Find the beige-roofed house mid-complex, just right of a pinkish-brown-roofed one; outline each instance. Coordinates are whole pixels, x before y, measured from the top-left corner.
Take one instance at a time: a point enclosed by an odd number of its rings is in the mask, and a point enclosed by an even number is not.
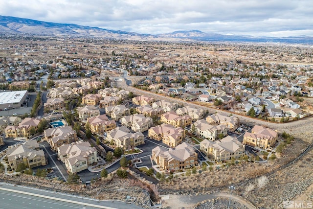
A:
[[[121,124],[135,132],[144,132],[152,127],[153,120],[151,117],[146,117],[143,114],[135,114],[122,117]]]

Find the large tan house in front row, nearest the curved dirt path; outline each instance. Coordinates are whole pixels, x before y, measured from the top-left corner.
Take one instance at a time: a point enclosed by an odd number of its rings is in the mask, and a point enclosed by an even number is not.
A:
[[[164,171],[174,171],[197,166],[198,154],[191,145],[183,142],[175,149],[157,146],[152,150],[152,160]]]

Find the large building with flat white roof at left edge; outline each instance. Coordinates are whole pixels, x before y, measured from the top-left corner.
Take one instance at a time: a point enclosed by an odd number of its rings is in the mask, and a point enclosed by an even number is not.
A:
[[[20,108],[28,95],[27,90],[14,92],[0,92],[0,109]]]

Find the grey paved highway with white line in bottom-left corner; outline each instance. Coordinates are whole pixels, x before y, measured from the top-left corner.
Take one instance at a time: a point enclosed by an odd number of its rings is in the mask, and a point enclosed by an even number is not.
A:
[[[99,201],[6,184],[0,184],[0,199],[0,209],[142,209],[122,201]]]

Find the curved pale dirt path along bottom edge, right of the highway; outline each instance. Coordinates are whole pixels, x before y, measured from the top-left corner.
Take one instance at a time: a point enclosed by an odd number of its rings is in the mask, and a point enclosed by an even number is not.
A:
[[[204,200],[216,199],[218,197],[224,197],[229,199],[230,194],[227,193],[214,193],[207,195],[165,195],[162,198],[162,207],[170,207],[170,209],[192,209],[197,203]],[[234,194],[231,195],[231,199],[245,205],[248,209],[255,209],[251,203],[245,199],[238,197]]]

